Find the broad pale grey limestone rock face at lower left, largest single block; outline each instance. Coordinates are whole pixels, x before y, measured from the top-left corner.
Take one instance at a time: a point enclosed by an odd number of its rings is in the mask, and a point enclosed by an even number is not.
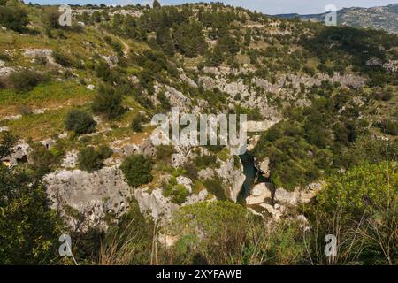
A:
[[[61,211],[68,224],[76,229],[106,228],[103,218],[107,213],[119,217],[129,207],[131,188],[117,166],[93,173],[80,170],[51,172],[44,180],[52,207]],[[65,213],[68,208],[78,211],[86,220],[79,223],[68,216]]]

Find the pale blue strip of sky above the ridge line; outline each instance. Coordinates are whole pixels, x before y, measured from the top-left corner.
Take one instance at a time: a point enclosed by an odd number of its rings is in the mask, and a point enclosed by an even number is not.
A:
[[[25,0],[39,4],[151,4],[152,0]],[[217,2],[217,0],[213,0]],[[210,2],[205,0],[160,0],[161,4],[182,4],[195,2]],[[267,14],[293,13],[300,14],[324,12],[327,4],[333,4],[338,9],[345,7],[372,7],[397,3],[398,0],[225,0],[224,4],[241,6],[252,11],[263,11]]]

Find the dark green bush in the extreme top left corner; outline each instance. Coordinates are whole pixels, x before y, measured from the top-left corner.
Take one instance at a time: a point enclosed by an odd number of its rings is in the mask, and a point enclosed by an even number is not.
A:
[[[22,32],[28,24],[27,11],[19,7],[0,6],[0,26]]]

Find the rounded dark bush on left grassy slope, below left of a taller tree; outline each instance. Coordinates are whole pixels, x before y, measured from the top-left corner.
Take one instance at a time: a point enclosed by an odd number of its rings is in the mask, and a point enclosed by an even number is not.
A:
[[[66,115],[65,128],[76,134],[89,134],[94,132],[96,121],[87,112],[74,109]]]

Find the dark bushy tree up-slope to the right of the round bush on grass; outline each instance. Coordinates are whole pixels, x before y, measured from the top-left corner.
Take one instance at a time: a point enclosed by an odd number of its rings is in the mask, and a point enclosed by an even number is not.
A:
[[[101,85],[91,107],[96,113],[103,114],[108,119],[115,119],[125,111],[121,103],[122,96],[119,91],[115,91],[114,88],[109,86]]]

